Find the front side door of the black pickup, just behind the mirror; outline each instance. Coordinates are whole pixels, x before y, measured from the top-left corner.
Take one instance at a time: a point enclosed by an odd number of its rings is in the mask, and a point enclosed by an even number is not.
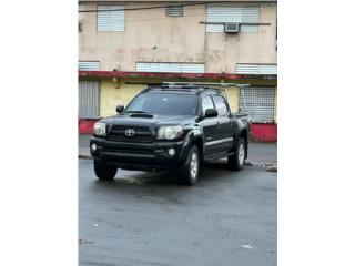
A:
[[[207,109],[215,109],[212,96],[206,95],[202,98],[202,115],[204,117],[205,111]],[[219,141],[219,117],[204,117],[201,121],[201,125],[203,129],[204,134],[204,142],[205,142],[205,154],[212,154],[216,152],[217,149],[217,141]]]

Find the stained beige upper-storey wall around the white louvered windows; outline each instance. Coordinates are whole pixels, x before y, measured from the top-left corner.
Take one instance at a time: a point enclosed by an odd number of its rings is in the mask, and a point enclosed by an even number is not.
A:
[[[84,2],[81,3],[81,9],[95,10],[97,4]],[[156,4],[158,2],[128,2],[125,7]],[[126,11],[124,32],[98,32],[97,13],[81,13],[79,60],[99,60],[101,70],[108,71],[135,71],[138,61],[205,62],[205,72],[219,73],[235,72],[236,63],[276,63],[276,4],[257,4],[261,6],[260,22],[272,25],[260,27],[258,33],[236,35],[206,33],[206,25],[200,23],[205,21],[204,6],[185,7],[182,18],[166,18],[164,9]]]

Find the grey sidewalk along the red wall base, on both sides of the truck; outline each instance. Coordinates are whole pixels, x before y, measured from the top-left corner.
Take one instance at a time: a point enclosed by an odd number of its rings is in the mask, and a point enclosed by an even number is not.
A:
[[[90,158],[90,134],[79,134],[79,157]],[[248,146],[248,162],[252,164],[277,164],[277,143],[252,142]]]

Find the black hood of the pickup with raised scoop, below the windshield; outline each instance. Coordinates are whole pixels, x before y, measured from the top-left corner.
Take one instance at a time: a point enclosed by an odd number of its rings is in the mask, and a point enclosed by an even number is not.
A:
[[[144,115],[144,114],[123,114],[114,115],[101,120],[100,122],[108,124],[124,125],[186,125],[196,122],[197,116],[194,115]]]

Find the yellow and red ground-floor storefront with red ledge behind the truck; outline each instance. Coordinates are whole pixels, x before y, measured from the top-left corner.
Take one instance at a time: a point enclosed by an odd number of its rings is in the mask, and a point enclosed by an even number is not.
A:
[[[212,73],[80,71],[79,132],[91,133],[95,121],[114,115],[116,105],[126,105],[148,84],[160,84],[168,81],[246,84],[247,86],[243,88],[225,88],[232,111],[245,111],[250,114],[253,140],[277,141],[276,79]]]

